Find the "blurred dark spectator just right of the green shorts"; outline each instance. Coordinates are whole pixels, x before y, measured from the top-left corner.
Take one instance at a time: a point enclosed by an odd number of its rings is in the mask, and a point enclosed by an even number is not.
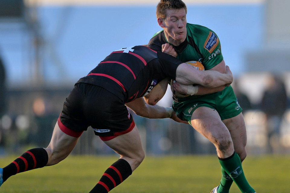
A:
[[[252,104],[251,104],[248,96],[240,90],[239,82],[240,82],[239,79],[235,79],[232,87],[233,87],[235,95],[237,96],[237,100],[238,100],[241,108],[243,109],[243,113],[244,113],[247,110],[252,109]]]

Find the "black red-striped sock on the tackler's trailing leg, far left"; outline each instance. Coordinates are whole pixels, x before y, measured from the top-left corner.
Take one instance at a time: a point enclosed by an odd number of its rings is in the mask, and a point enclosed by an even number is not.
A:
[[[3,168],[3,181],[5,182],[10,176],[31,169],[42,168],[48,162],[48,155],[43,148],[34,148],[26,151],[8,166]]]

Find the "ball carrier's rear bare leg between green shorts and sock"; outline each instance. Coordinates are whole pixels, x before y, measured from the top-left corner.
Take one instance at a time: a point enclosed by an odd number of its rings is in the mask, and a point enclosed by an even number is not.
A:
[[[243,161],[247,156],[245,148],[247,144],[247,131],[243,114],[240,113],[230,119],[224,119],[222,122],[227,126],[233,140],[234,149]]]

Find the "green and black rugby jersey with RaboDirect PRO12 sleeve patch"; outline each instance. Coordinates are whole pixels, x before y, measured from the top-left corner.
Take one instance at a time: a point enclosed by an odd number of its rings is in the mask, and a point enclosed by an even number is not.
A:
[[[201,25],[189,23],[186,24],[186,30],[187,37],[183,43],[179,46],[171,44],[177,52],[177,59],[182,62],[201,62],[205,70],[213,68],[224,59],[221,54],[221,43],[212,30]],[[169,42],[165,37],[164,31],[161,30],[153,35],[147,46],[153,50],[161,51],[162,44],[165,43]],[[199,96],[187,96],[185,98],[197,97]]]

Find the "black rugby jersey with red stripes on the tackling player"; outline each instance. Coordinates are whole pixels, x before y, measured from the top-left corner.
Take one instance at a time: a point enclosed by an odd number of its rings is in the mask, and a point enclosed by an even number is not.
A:
[[[169,54],[133,46],[112,52],[77,83],[103,87],[127,103],[145,96],[166,77],[175,80],[181,63]]]

